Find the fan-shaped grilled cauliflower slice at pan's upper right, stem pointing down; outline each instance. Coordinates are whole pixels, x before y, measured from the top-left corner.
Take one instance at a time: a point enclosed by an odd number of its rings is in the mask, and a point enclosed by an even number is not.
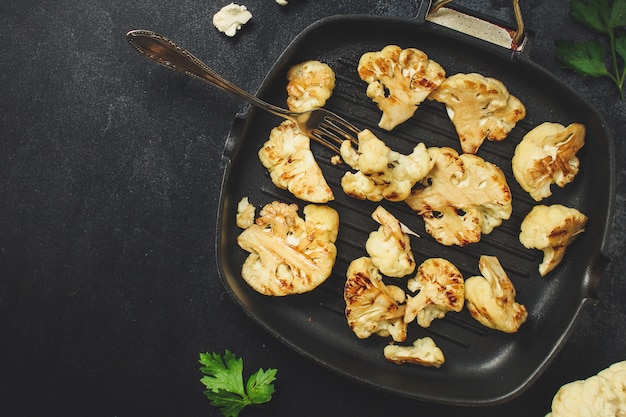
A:
[[[464,153],[475,154],[485,139],[503,140],[526,116],[500,80],[476,73],[448,77],[429,98],[445,104]]]

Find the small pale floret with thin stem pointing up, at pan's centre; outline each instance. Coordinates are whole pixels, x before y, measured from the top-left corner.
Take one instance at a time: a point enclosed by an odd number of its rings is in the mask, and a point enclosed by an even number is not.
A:
[[[402,223],[382,206],[372,213],[380,223],[377,231],[371,232],[365,250],[376,268],[388,277],[401,278],[415,270],[415,258],[411,252],[411,239],[404,232]]]

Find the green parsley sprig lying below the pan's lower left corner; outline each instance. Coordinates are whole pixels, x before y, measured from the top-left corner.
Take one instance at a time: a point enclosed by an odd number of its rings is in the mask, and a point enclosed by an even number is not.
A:
[[[204,395],[211,405],[218,407],[224,417],[237,417],[251,404],[263,404],[272,399],[276,369],[259,369],[244,387],[243,359],[229,350],[224,357],[217,353],[200,353],[200,382],[207,388]]]

